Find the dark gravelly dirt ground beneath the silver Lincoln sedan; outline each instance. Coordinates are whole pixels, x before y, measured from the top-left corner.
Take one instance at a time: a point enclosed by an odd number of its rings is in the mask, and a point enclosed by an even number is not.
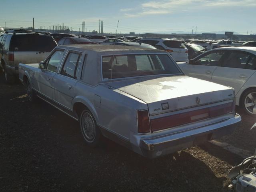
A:
[[[227,192],[228,170],[242,161],[210,143],[153,160],[107,139],[88,148],[72,118],[0,78],[0,192]],[[251,119],[224,140],[253,151]]]

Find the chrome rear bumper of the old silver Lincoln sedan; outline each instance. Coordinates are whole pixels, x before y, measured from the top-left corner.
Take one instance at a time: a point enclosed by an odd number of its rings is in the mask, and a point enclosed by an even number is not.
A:
[[[140,150],[148,158],[170,154],[207,140],[214,140],[231,134],[240,121],[240,115],[236,114],[234,118],[185,132],[150,139],[142,138],[140,139]]]

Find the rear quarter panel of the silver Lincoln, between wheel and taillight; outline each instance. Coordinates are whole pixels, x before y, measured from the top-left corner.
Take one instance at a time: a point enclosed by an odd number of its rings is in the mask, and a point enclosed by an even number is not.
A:
[[[95,99],[98,96],[100,103]],[[76,102],[88,107],[100,127],[128,140],[130,132],[137,132],[136,110],[147,109],[146,103],[120,90],[110,89],[106,84],[92,87],[78,82],[72,106]]]

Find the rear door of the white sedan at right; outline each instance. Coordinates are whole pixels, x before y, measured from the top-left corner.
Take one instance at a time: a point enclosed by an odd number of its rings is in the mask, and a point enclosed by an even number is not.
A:
[[[255,72],[253,69],[255,56],[237,50],[228,50],[228,55],[218,66],[212,75],[212,82],[230,86],[236,93]]]

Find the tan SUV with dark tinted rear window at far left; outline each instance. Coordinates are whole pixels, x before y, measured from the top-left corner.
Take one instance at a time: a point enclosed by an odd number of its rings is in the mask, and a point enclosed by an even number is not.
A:
[[[38,33],[8,33],[0,35],[0,72],[4,69],[6,83],[13,83],[18,64],[40,62],[57,46],[48,35]]]

